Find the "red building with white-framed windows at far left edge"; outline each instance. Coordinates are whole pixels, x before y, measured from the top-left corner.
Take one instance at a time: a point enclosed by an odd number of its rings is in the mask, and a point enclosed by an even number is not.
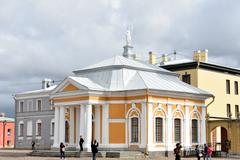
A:
[[[0,117],[0,148],[14,147],[14,119],[5,117],[4,113]]]

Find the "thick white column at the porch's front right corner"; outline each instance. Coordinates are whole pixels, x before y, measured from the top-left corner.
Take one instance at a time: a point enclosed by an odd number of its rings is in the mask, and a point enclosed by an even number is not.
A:
[[[92,140],[92,105],[86,105],[86,135],[85,146],[88,152],[91,152],[91,140]]]

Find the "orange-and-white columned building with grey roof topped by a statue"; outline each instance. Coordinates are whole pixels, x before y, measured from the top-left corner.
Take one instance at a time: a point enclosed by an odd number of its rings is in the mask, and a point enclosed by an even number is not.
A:
[[[78,147],[80,135],[87,151],[93,139],[105,150],[150,153],[172,152],[180,142],[186,149],[206,143],[205,100],[212,94],[183,83],[176,73],[135,60],[129,34],[123,56],[75,70],[49,91],[53,110],[45,127],[53,124],[52,148],[61,142]]]

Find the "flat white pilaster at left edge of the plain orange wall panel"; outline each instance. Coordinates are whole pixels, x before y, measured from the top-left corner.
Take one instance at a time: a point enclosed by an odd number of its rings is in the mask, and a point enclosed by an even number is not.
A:
[[[104,147],[108,146],[108,133],[109,133],[109,111],[108,104],[102,106],[102,145]]]

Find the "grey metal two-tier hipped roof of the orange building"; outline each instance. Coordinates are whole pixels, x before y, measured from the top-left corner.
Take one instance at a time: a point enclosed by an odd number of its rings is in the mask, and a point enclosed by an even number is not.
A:
[[[70,79],[89,89],[99,91],[152,89],[211,95],[209,92],[182,82],[176,73],[123,56],[115,56],[73,72],[75,76],[69,77]]]

